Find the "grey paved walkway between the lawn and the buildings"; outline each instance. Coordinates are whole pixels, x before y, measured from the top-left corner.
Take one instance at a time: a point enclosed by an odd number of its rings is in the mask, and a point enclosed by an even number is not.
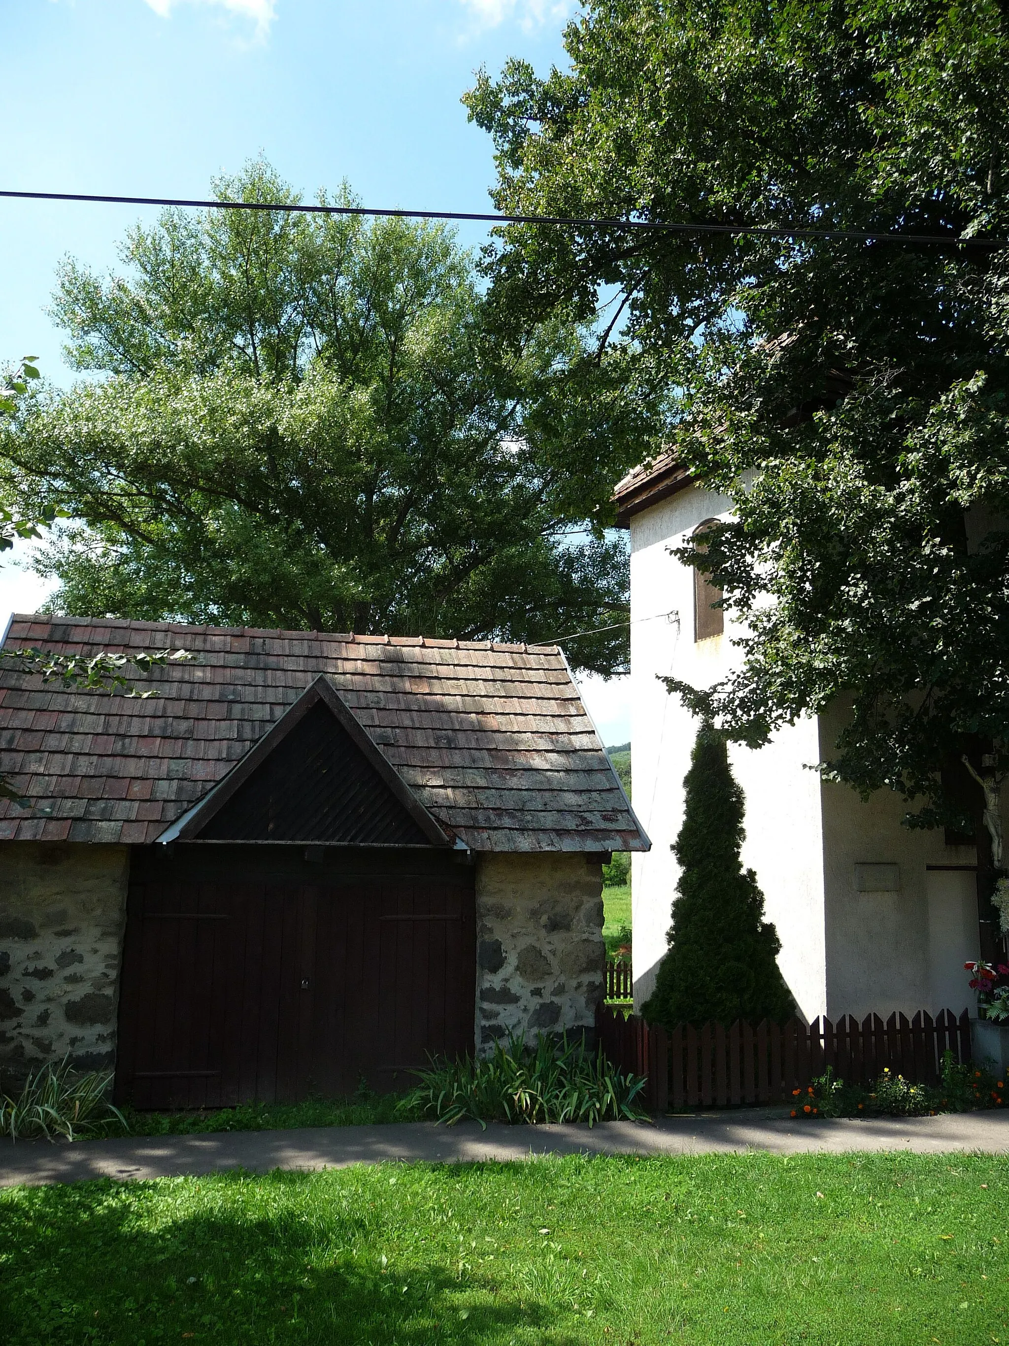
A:
[[[48,1144],[0,1141],[0,1186],[87,1178],[168,1178],[245,1168],[311,1171],[347,1164],[530,1159],[538,1155],[702,1155],[764,1149],[775,1155],[845,1151],[1009,1154],[1009,1112],[798,1123],[760,1109],[663,1117],[657,1124],[504,1127],[431,1121],[381,1127],[305,1127],[203,1136],[144,1136]]]

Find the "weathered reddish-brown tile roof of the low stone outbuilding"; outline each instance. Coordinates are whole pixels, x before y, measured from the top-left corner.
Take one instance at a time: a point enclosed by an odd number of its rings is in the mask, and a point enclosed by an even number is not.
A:
[[[324,674],[420,802],[475,851],[627,851],[648,843],[561,651],[16,615],[8,647],[184,647],[160,696],[43,685],[0,662],[0,840],[155,841]]]

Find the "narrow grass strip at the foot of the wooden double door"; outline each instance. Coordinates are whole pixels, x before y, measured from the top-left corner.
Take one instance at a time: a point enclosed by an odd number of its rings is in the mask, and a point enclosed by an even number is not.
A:
[[[363,1127],[377,1121],[409,1121],[409,1117],[396,1113],[402,1097],[362,1092],[350,1098],[252,1102],[210,1112],[137,1112],[135,1108],[124,1108],[122,1112],[133,1136],[194,1136],[207,1131]]]

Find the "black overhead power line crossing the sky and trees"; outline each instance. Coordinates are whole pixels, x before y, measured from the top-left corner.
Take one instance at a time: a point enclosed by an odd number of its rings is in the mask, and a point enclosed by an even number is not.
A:
[[[868,229],[805,229],[788,225],[681,223],[667,219],[580,218],[576,215],[503,215],[472,210],[394,210],[379,206],[305,205],[288,201],[196,201],[187,197],[100,197],[79,191],[4,191],[16,201],[77,201],[106,206],[182,206],[199,210],[276,210],[289,215],[377,215],[394,219],[460,219],[488,225],[556,225],[565,229],[642,229],[669,234],[731,234],[767,238],[849,238],[856,242],[930,244],[944,248],[1009,248],[1005,238],[957,234],[899,234]]]

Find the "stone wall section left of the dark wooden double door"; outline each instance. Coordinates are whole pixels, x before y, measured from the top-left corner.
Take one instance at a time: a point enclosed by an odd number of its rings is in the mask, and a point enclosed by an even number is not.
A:
[[[116,1058],[129,851],[0,843],[0,1074]]]

